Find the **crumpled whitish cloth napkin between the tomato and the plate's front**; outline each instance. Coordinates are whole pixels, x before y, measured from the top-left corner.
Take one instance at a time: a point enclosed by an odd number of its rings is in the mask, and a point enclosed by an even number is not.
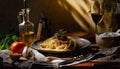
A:
[[[27,47],[25,47],[23,50],[23,57],[26,55],[26,50]],[[64,61],[61,58],[44,56],[42,53],[33,48],[28,48],[28,51],[29,59],[21,63],[16,63],[16,65],[21,69],[58,69],[58,64]]]

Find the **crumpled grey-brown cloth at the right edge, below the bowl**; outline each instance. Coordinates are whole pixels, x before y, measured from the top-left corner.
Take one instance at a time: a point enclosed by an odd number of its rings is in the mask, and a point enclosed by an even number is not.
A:
[[[104,56],[96,58],[92,61],[98,62],[120,62],[120,46],[115,46],[111,48],[100,48],[101,54]]]

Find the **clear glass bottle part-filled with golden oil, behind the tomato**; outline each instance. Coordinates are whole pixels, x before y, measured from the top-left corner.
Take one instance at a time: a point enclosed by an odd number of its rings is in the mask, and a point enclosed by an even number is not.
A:
[[[27,46],[31,46],[34,42],[34,24],[29,20],[30,9],[22,9],[22,20],[19,24],[20,41],[26,43]]]

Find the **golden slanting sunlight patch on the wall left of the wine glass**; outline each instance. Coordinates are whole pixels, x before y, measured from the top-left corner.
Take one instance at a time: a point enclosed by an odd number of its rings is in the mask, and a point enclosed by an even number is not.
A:
[[[85,31],[89,31],[90,28],[94,31],[95,27],[89,13],[91,2],[91,0],[58,0],[58,3],[71,12],[75,21]]]

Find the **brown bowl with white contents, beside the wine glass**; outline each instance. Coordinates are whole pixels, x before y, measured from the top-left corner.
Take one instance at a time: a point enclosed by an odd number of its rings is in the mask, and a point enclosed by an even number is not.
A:
[[[120,34],[114,32],[96,34],[96,44],[101,47],[119,46]]]

